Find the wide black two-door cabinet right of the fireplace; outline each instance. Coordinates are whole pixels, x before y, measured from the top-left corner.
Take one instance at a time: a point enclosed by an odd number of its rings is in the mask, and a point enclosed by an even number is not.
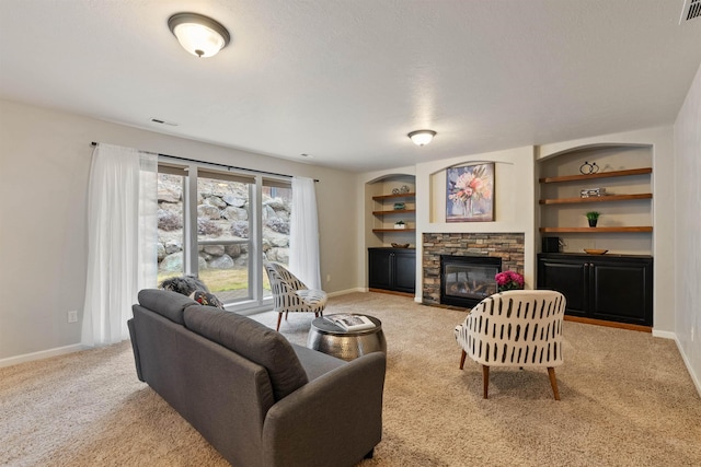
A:
[[[538,288],[562,292],[566,314],[653,325],[653,258],[628,255],[538,255]]]

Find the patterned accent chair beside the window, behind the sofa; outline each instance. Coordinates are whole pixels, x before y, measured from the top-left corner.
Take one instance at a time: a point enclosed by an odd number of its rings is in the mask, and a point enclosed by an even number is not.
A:
[[[323,316],[327,301],[326,292],[309,290],[279,262],[264,261],[263,265],[271,281],[275,311],[278,313],[276,330],[280,330],[283,314],[287,320],[289,312],[308,312],[313,313],[315,317]]]

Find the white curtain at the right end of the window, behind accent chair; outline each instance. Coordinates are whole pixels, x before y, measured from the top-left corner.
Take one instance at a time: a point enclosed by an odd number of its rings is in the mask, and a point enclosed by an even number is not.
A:
[[[321,290],[317,192],[311,178],[292,177],[289,269],[310,289]]]

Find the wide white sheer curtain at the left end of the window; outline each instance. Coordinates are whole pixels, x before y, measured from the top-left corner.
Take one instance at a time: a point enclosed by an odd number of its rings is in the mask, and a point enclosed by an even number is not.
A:
[[[158,156],[100,143],[88,188],[88,280],[83,346],[129,338],[140,289],[157,282]]]

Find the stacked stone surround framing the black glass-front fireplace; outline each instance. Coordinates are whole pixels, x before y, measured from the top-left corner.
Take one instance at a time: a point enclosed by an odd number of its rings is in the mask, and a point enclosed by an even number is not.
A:
[[[422,303],[440,303],[440,255],[502,258],[502,270],[524,273],[522,233],[425,233],[423,234]]]

